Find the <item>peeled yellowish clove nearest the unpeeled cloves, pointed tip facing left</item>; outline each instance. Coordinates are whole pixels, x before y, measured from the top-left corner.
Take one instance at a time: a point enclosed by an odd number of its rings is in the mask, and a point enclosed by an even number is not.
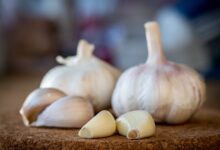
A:
[[[87,122],[78,135],[83,138],[101,138],[115,133],[115,118],[109,111],[103,110]]]

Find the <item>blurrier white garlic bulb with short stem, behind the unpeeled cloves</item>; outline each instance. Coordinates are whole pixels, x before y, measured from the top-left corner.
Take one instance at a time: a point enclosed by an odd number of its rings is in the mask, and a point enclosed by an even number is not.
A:
[[[41,88],[57,88],[67,95],[91,100],[95,111],[110,107],[111,95],[121,71],[95,57],[94,45],[80,40],[77,55],[57,57],[63,66],[51,69],[43,78]]]

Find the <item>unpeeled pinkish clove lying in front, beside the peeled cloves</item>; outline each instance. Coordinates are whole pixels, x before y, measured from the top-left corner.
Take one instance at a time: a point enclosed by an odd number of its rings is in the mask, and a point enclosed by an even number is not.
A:
[[[94,116],[92,104],[76,96],[66,96],[49,105],[32,126],[80,128]]]

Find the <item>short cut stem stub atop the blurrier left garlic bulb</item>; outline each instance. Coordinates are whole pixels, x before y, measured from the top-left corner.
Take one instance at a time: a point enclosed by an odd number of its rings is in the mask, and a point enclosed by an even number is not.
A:
[[[77,47],[78,58],[88,58],[92,56],[95,46],[86,40],[80,40]]]

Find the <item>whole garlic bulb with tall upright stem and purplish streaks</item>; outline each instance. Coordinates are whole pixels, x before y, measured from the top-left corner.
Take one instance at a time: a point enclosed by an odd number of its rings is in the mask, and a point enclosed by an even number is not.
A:
[[[113,110],[119,116],[142,109],[156,122],[185,122],[203,104],[205,84],[193,69],[166,60],[157,23],[146,23],[145,30],[148,59],[120,76],[113,93]]]

